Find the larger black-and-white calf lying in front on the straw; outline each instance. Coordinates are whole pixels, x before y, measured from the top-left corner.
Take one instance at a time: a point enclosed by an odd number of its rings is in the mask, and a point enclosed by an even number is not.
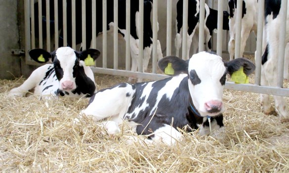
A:
[[[124,120],[136,123],[137,134],[150,135],[170,144],[181,136],[176,128],[189,126],[200,134],[219,137],[224,132],[222,102],[226,75],[240,67],[251,74],[255,66],[246,58],[224,62],[213,52],[194,54],[189,60],[167,56],[158,63],[162,71],[172,63],[173,77],[160,81],[123,83],[98,91],[82,116],[104,122],[108,133],[119,133]],[[211,130],[209,122],[211,121]],[[79,120],[76,120],[79,121]],[[172,138],[171,138],[172,136]]]

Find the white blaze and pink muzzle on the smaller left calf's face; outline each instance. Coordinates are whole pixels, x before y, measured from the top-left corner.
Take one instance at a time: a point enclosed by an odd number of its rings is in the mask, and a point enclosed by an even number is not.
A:
[[[75,78],[73,77],[73,67],[76,62],[75,51],[70,47],[60,47],[56,50],[56,57],[63,70],[63,77],[59,81],[59,89],[72,90],[76,88]]]

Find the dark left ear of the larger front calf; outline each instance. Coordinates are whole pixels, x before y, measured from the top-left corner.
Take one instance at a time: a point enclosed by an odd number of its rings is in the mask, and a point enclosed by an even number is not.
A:
[[[172,75],[178,75],[181,73],[188,74],[189,60],[185,61],[176,56],[166,56],[158,62],[158,66],[163,72],[165,72],[165,68],[167,68],[168,63],[171,63],[171,67],[174,70],[174,74]]]

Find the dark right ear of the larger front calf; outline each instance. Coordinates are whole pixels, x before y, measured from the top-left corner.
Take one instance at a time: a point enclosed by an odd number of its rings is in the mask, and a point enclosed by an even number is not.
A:
[[[246,58],[237,58],[231,61],[225,62],[225,66],[228,69],[228,73],[231,76],[232,73],[238,71],[241,66],[244,68],[244,73],[248,76],[255,71],[255,65]]]

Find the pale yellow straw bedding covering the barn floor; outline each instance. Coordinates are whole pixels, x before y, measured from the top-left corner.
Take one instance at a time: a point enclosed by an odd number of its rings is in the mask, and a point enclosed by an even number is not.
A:
[[[126,81],[95,77],[99,89]],[[127,144],[133,132],[109,136],[90,119],[74,125],[84,98],[7,98],[23,81],[0,80],[0,172],[289,172],[289,123],[264,115],[257,93],[224,91],[224,141],[192,132],[166,146]]]

